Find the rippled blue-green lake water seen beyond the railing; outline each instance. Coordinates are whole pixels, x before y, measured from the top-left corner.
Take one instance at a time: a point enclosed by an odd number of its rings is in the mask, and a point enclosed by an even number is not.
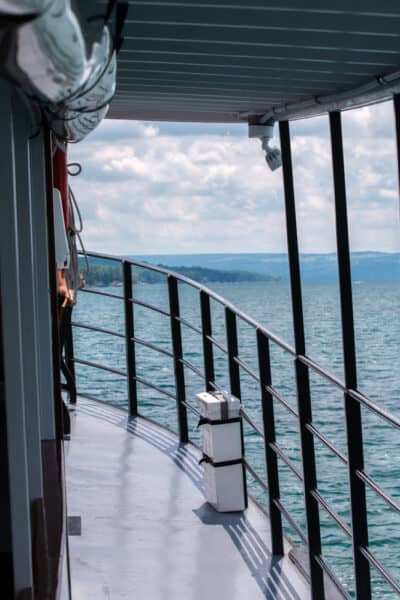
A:
[[[181,316],[200,326],[198,291],[179,284]],[[214,284],[213,290],[231,300],[237,307],[289,343],[293,343],[289,287],[280,283]],[[102,288],[121,294],[121,288]],[[369,398],[400,416],[400,283],[363,283],[354,285],[354,316],[357,336],[359,389]],[[167,286],[139,284],[135,297],[168,310]],[[343,357],[340,331],[339,292],[335,283],[305,284],[303,287],[307,354],[338,377],[343,377]],[[224,314],[212,301],[213,336],[226,343]],[[124,333],[123,303],[120,299],[81,294],[74,320]],[[135,306],[135,335],[138,338],[171,350],[170,324],[167,317]],[[239,321],[239,356],[257,371],[255,331]],[[203,370],[201,339],[193,330],[182,327],[184,358]],[[75,356],[125,371],[124,340],[84,329],[75,329]],[[293,359],[277,346],[271,346],[272,381],[282,396],[296,406]],[[150,379],[162,389],[175,392],[172,361],[169,357],[139,344],[136,346],[137,375]],[[216,382],[228,389],[225,355],[215,349]],[[241,373],[243,403],[247,412],[262,426],[258,384],[245,372]],[[202,380],[185,369],[186,394],[194,401],[201,391]],[[127,404],[126,381],[106,371],[77,365],[78,389],[114,404]],[[174,401],[157,391],[139,385],[139,407],[144,416],[152,417],[176,430]],[[313,421],[315,425],[344,453],[346,451],[343,396],[333,384],[311,374]],[[194,403],[194,402],[193,402]],[[297,419],[278,401],[276,413],[277,442],[295,464],[300,463],[300,443]],[[365,470],[393,498],[400,499],[400,434],[382,419],[362,409],[365,442]],[[189,415],[191,437],[198,441],[197,419]],[[246,458],[265,479],[264,450],[259,436],[245,427]],[[346,466],[317,439],[318,489],[335,512],[350,526],[349,488]],[[305,532],[303,491],[299,481],[283,462],[279,462],[281,498],[284,506]],[[264,493],[249,478],[249,489],[266,507]],[[400,581],[400,516],[383,500],[367,489],[370,548]],[[351,545],[331,517],[320,510],[323,534],[323,556],[335,570],[352,595]],[[288,526],[286,533],[298,542]],[[372,569],[374,598],[394,598],[395,592]]]

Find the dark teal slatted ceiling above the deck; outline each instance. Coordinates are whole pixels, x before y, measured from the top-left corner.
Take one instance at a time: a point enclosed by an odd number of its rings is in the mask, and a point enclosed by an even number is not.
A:
[[[112,118],[247,121],[400,69],[398,0],[129,5]]]

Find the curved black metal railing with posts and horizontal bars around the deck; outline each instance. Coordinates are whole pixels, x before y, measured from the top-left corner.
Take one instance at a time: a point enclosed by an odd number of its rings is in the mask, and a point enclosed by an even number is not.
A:
[[[353,535],[353,530],[339,516],[337,511],[323,497],[318,490],[318,485],[313,484],[315,477],[315,449],[314,439],[318,439],[325,448],[329,450],[339,461],[344,464],[349,473],[349,478],[356,478],[364,489],[372,490],[383,503],[386,504],[395,513],[400,513],[399,503],[371,478],[364,469],[359,469],[357,461],[353,461],[351,447],[347,447],[344,453],[313,423],[311,414],[311,397],[309,374],[315,372],[323,377],[330,384],[336,386],[343,394],[344,401],[352,402],[362,406],[368,411],[374,413],[380,419],[383,419],[391,426],[400,429],[400,419],[389,413],[376,402],[362,394],[357,389],[348,389],[345,384],[334,374],[330,373],[319,364],[314,362],[305,354],[296,353],[295,349],[271,333],[268,329],[257,323],[254,319],[244,314],[233,304],[216,294],[201,284],[184,277],[183,275],[168,271],[161,267],[153,266],[147,263],[124,260],[118,257],[107,256],[103,254],[90,253],[89,257],[102,259],[104,261],[113,261],[122,268],[123,276],[123,295],[118,295],[101,289],[84,289],[85,294],[93,294],[105,297],[111,297],[120,300],[124,306],[124,333],[113,331],[112,329],[102,328],[95,325],[89,325],[82,322],[73,322],[73,329],[86,329],[93,332],[102,333],[106,336],[115,336],[125,341],[126,348],[126,370],[115,369],[106,365],[101,365],[93,361],[86,360],[84,357],[74,357],[72,336],[69,337],[69,343],[66,347],[66,364],[69,370],[74,373],[77,365],[86,365],[95,369],[101,369],[113,373],[119,377],[126,378],[128,390],[128,411],[131,418],[136,417],[140,412],[140,402],[138,401],[137,384],[151,388],[162,396],[173,399],[176,403],[178,433],[182,443],[193,441],[188,427],[188,411],[198,415],[195,406],[189,402],[186,397],[185,388],[185,369],[193,371],[203,382],[203,389],[213,391],[219,389],[215,378],[214,350],[217,348],[227,357],[230,392],[242,397],[241,377],[245,372],[248,377],[256,382],[259,387],[259,398],[261,406],[262,424],[259,425],[256,420],[242,405],[242,417],[247,425],[252,428],[254,434],[258,436],[263,443],[266,480],[260,476],[257,470],[245,460],[247,472],[255,480],[258,486],[265,492],[268,499],[268,512],[271,520],[271,546],[273,554],[283,554],[283,526],[282,518],[297,533],[300,540],[308,548],[310,559],[310,578],[313,589],[313,598],[324,598],[324,578],[326,576],[332,580],[338,590],[344,597],[349,597],[348,592],[343,587],[340,577],[334,573],[327,562],[324,560],[321,552],[321,526],[319,511],[325,511],[330,519],[339,527],[345,537],[352,540],[354,557],[357,553],[362,555],[368,563],[377,571],[377,573],[387,582],[387,584],[397,593],[400,593],[400,584],[395,581],[390,572],[385,568],[380,560],[372,553],[367,544],[360,543]],[[134,294],[134,281],[132,271],[135,268],[149,270],[164,276],[168,286],[168,310],[155,306],[151,303],[140,300]],[[200,306],[201,326],[197,326],[181,316],[180,312],[180,293],[179,285],[186,284],[191,288],[198,290],[198,302]],[[212,309],[211,301],[215,301],[222,306],[225,316],[226,344],[213,337],[212,329]],[[142,306],[154,313],[158,313],[168,318],[170,321],[170,342],[171,351],[155,343],[146,341],[135,335],[135,315],[134,306]],[[240,357],[238,342],[238,322],[242,321],[254,330],[254,344],[257,349],[257,368],[249,365]],[[185,358],[182,348],[182,328],[186,327],[196,332],[201,338],[201,352],[203,357],[203,369],[193,364]],[[297,407],[289,402],[281,391],[278,391],[272,382],[271,375],[271,345],[277,345],[285,353],[290,355],[294,361],[297,387]],[[174,365],[175,391],[165,389],[162,385],[154,382],[154,379],[138,376],[136,372],[136,348],[138,346],[147,347],[155,352],[169,357]],[[78,393],[79,390],[78,390]],[[85,394],[82,394],[85,395]],[[297,419],[301,442],[302,464],[298,466],[279,446],[276,439],[274,403],[278,402],[286,411]],[[343,424],[345,426],[345,424]],[[351,427],[351,421],[347,420],[347,427]],[[351,440],[351,431],[348,439]],[[246,437],[245,437],[245,456],[246,456]],[[350,443],[351,445],[351,443]],[[284,498],[280,493],[280,477],[278,461],[282,461],[286,467],[294,474],[295,478],[301,482],[305,491],[305,522],[306,531],[299,526],[296,519],[284,504]],[[356,466],[355,466],[356,465]],[[314,475],[313,475],[314,474]],[[353,518],[361,519],[367,522],[367,508],[361,498],[351,496],[349,498],[351,514]],[[368,539],[368,537],[366,538]],[[317,549],[317,551],[315,551]],[[365,576],[365,573],[359,572],[359,563],[354,561],[355,578]]]

